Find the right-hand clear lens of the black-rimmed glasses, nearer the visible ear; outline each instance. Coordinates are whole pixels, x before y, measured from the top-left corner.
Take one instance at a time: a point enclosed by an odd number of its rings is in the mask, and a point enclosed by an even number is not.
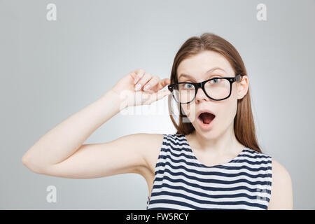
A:
[[[223,99],[230,94],[230,82],[225,78],[216,78],[205,83],[204,89],[210,97]]]

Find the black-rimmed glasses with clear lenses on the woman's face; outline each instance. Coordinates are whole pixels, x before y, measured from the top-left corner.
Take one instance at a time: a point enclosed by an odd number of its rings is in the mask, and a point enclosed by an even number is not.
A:
[[[168,89],[176,102],[181,104],[189,104],[192,102],[201,87],[204,93],[213,100],[223,100],[230,97],[232,92],[232,84],[241,80],[241,74],[235,77],[215,77],[204,80],[200,83],[181,82],[168,85]]]

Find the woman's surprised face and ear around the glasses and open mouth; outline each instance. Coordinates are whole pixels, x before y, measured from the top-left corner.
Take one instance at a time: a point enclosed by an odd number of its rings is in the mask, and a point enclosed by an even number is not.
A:
[[[183,76],[183,73],[189,77]],[[235,77],[235,72],[223,55],[206,50],[184,59],[177,68],[177,77],[179,82],[197,83],[214,77]],[[199,88],[193,102],[181,104],[181,107],[189,122],[195,127],[196,132],[207,139],[216,139],[226,131],[233,130],[234,118],[237,113],[237,99],[244,97],[247,89],[248,78],[243,76],[241,81],[232,84],[231,95],[228,99],[215,101],[207,97],[202,88]],[[215,115],[215,118],[206,128],[202,127],[203,122],[197,117],[197,113],[204,109]]]

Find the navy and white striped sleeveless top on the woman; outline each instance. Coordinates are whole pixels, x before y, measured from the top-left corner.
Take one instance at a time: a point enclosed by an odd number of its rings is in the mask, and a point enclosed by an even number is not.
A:
[[[184,134],[163,134],[146,209],[267,209],[272,158],[244,148],[224,165],[208,167]]]

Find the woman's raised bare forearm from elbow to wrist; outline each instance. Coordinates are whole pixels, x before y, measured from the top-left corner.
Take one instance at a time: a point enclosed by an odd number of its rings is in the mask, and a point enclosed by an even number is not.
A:
[[[25,165],[42,169],[62,162],[107,120],[119,113],[120,97],[111,90],[44,134],[22,158]],[[122,108],[123,109],[123,108]]]

